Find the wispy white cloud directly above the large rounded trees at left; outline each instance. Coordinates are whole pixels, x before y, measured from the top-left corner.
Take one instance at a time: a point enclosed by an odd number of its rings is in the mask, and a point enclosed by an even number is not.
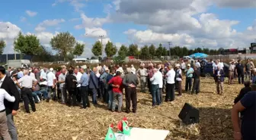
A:
[[[46,30],[46,26],[57,26],[59,25],[59,23],[64,23],[65,20],[64,19],[54,19],[54,20],[44,20],[42,23],[39,23],[35,30],[37,32],[42,32],[44,30]]]

